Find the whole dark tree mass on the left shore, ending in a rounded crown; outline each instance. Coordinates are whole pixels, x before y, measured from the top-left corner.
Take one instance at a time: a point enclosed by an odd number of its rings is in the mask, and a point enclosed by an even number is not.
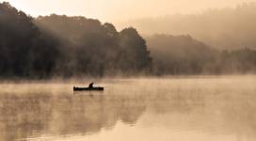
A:
[[[148,72],[152,58],[136,29],[52,14],[33,19],[0,4],[0,75],[104,76]]]

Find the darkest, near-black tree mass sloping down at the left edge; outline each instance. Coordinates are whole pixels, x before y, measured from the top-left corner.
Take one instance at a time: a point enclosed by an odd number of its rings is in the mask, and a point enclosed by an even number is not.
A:
[[[0,73],[2,76],[50,75],[57,51],[33,18],[7,2],[0,4]]]

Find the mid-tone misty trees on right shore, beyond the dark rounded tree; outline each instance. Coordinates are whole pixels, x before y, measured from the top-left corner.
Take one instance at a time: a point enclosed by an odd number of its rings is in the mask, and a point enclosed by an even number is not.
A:
[[[190,36],[155,35],[147,39],[155,74],[255,73],[256,50],[217,51]]]

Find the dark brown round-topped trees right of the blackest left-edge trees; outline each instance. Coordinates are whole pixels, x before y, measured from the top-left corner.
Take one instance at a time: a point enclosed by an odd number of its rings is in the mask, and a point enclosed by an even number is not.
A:
[[[67,52],[63,52],[65,57],[62,60],[67,63],[59,64],[67,66],[59,68],[67,68],[65,73],[68,75],[132,74],[151,68],[146,42],[134,28],[119,33],[113,24],[55,14],[39,17],[35,23],[41,30],[66,43]],[[129,40],[125,41],[125,38]]]

